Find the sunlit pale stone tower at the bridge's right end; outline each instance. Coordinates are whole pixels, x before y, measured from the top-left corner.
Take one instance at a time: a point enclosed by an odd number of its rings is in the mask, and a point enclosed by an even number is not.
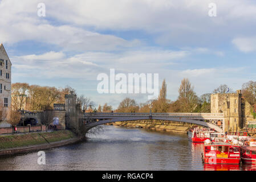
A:
[[[224,113],[224,130],[239,131],[245,126],[241,90],[237,93],[212,94],[211,113]]]

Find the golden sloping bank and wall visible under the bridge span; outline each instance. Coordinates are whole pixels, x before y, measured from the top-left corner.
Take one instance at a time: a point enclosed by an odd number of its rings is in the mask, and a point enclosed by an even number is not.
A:
[[[124,126],[124,127],[141,127],[144,129],[154,130],[154,131],[168,131],[174,133],[184,133],[186,134],[190,127],[194,126],[189,123],[179,123],[179,122],[148,122],[148,121],[129,121],[129,122],[115,122],[109,123],[109,125]]]

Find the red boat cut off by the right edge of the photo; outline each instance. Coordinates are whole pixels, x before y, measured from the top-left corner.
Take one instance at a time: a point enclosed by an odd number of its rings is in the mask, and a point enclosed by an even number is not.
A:
[[[256,164],[256,142],[247,142],[241,147],[241,159],[245,164]]]

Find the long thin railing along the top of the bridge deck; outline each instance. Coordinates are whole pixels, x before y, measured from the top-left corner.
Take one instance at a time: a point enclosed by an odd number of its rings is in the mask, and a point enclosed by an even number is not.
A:
[[[90,117],[143,117],[149,113],[85,113]],[[152,113],[153,117],[224,117],[223,113]]]

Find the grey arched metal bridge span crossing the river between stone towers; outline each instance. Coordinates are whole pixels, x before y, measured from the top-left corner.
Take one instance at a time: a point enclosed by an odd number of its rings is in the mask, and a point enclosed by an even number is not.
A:
[[[84,113],[87,130],[106,123],[136,120],[162,120],[193,123],[212,128],[220,133],[224,132],[223,113]]]

